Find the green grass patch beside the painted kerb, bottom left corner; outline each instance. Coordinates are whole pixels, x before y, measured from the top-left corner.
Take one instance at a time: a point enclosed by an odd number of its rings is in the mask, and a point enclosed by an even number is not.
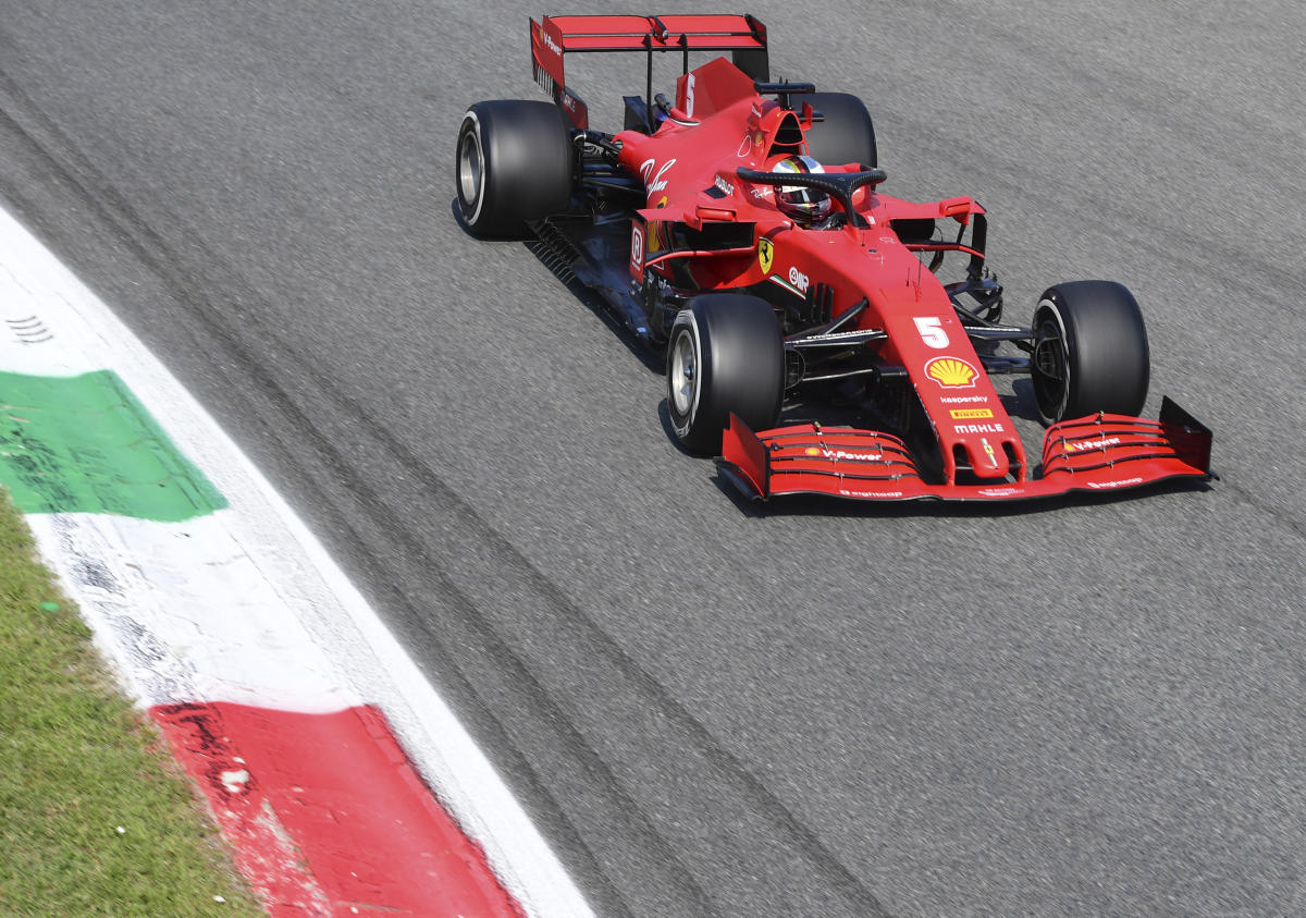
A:
[[[0,488],[0,915],[261,914]]]

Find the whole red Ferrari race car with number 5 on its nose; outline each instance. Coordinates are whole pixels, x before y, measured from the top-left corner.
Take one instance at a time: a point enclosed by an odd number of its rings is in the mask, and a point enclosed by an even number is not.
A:
[[[1012,500],[1212,477],[1207,428],[1169,399],[1136,417],[1149,354],[1130,292],[1058,284],[1029,327],[1003,323],[983,208],[883,194],[866,106],[772,82],[754,17],[555,16],[530,39],[552,101],[468,109],[465,229],[534,237],[665,352],[675,435],[746,494]],[[564,58],[585,51],[648,55],[615,135],[567,85]],[[691,69],[703,51],[730,58]],[[653,93],[654,52],[680,59],[674,101]],[[1037,466],[995,374],[1030,377]]]

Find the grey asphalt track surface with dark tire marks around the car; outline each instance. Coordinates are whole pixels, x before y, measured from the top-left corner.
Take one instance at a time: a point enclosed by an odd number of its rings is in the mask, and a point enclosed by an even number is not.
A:
[[[1135,292],[1148,413],[1205,420],[1224,476],[765,514],[599,315],[452,217],[462,109],[542,98],[541,12],[0,0],[0,195],[282,488],[601,914],[1306,910],[1303,8],[754,4],[774,75],[867,99],[885,191],[986,205],[1008,318]],[[599,118],[640,67],[568,63]]]

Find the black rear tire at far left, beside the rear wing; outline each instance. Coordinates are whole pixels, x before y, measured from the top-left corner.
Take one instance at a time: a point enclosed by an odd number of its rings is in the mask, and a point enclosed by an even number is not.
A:
[[[552,102],[477,102],[458,128],[458,212],[479,237],[522,237],[526,222],[565,211],[573,175],[571,128]]]

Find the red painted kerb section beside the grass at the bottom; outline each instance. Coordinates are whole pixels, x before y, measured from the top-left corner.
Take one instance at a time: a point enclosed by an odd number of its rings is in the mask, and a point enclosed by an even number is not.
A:
[[[215,702],[150,714],[270,914],[521,918],[380,711]]]

